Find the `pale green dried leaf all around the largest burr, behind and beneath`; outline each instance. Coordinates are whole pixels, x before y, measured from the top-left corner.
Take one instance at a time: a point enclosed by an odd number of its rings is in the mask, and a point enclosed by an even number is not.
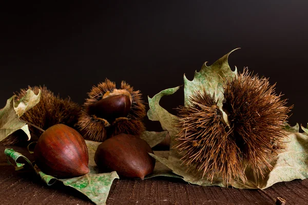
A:
[[[196,72],[194,80],[189,81],[184,76],[185,105],[189,103],[187,100],[191,94],[194,93],[194,91],[201,90],[204,87],[205,91],[210,94],[215,93],[216,97],[219,97],[220,101],[218,106],[221,109],[221,102],[223,100],[223,80],[230,80],[236,75],[236,71],[231,71],[227,63],[227,57],[230,53],[226,54],[209,67],[204,65],[199,73]],[[172,124],[172,122],[176,119],[176,116],[171,115],[163,109],[159,105],[159,101],[161,97],[172,94],[177,89],[178,87],[166,89],[155,95],[153,98],[149,98],[150,110],[148,112],[148,117],[151,120],[160,121],[163,129],[169,131],[171,148],[175,144],[174,140],[178,134],[177,129],[175,129],[174,124]],[[224,116],[224,119],[226,121],[226,115]],[[302,127],[302,129],[308,133],[308,128],[306,129]],[[273,161],[271,161],[274,169],[272,171],[265,170],[264,178],[261,178],[260,174],[258,175],[257,173],[253,173],[251,170],[247,169],[245,171],[247,181],[245,183],[242,181],[235,181],[233,184],[235,188],[265,189],[280,181],[290,181],[293,179],[304,179],[308,177],[308,136],[306,133],[298,133],[298,124],[294,127],[287,125],[285,130],[288,131],[288,138],[285,139],[285,149],[283,152],[279,153]],[[182,176],[183,179],[189,183],[195,183],[201,186],[215,185],[227,187],[227,185],[223,184],[221,178],[214,178],[213,182],[210,182],[206,180],[206,176],[202,179],[192,173],[191,170],[193,170],[194,167],[183,165],[183,161],[181,160],[181,156],[183,154],[179,154],[176,150],[171,149],[170,156],[168,158],[153,154],[150,155],[172,170],[173,173]],[[159,175],[163,175],[163,173],[156,176]]]

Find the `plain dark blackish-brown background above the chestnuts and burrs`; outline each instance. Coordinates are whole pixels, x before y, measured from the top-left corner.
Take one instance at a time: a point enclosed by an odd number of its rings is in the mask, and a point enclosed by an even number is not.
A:
[[[82,104],[106,77],[126,80],[147,102],[192,79],[205,61],[230,50],[232,69],[277,82],[295,105],[290,123],[306,125],[308,1],[102,1],[1,3],[0,107],[14,91],[46,85]],[[183,91],[162,99],[171,112]],[[159,124],[146,121],[148,130]]]

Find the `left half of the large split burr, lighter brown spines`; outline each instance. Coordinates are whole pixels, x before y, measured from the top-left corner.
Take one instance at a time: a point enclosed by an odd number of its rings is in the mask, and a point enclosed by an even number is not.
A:
[[[179,151],[185,151],[183,163],[193,166],[198,175],[212,180],[218,174],[224,182],[244,179],[241,156],[214,96],[195,92],[187,107],[179,107],[177,135]],[[194,169],[191,169],[194,170]]]

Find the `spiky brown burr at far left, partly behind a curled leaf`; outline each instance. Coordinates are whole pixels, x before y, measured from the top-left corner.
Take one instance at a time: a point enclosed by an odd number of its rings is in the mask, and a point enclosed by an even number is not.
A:
[[[43,130],[47,130],[49,127],[56,124],[64,124],[69,127],[74,127],[74,124],[78,121],[81,106],[74,103],[69,97],[63,99],[59,95],[54,95],[54,93],[48,90],[45,86],[29,86],[28,89],[31,89],[36,95],[38,94],[38,91],[41,90],[41,98],[37,105],[21,116],[22,120]],[[24,97],[28,89],[21,89],[20,92],[15,92],[15,99],[19,100]],[[37,137],[41,136],[43,132],[30,124],[28,125],[31,134],[34,134]],[[19,132],[19,134],[13,133],[3,140],[2,143],[4,145],[17,144],[22,140],[20,134],[23,134],[23,132]]]

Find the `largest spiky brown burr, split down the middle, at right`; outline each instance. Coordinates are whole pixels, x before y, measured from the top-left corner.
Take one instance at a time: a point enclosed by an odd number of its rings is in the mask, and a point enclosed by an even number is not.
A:
[[[283,127],[292,107],[275,94],[275,85],[245,69],[224,84],[223,111],[214,97],[205,91],[195,92],[190,105],[179,108],[177,135],[179,151],[185,151],[186,165],[197,168],[198,174],[213,180],[221,176],[224,183],[246,180],[245,168],[263,176],[264,168],[282,148],[286,135]]]

